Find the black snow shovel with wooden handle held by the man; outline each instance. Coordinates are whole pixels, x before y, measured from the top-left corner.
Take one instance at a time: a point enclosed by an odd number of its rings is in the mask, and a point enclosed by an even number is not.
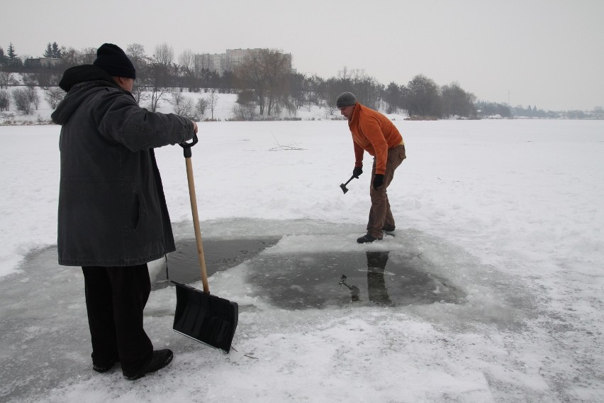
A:
[[[201,282],[203,292],[188,285],[174,282],[177,289],[177,307],[174,312],[174,331],[193,338],[209,346],[220,348],[225,352],[230,351],[235,329],[239,307],[236,302],[230,302],[210,294],[208,287],[208,275],[206,272],[206,259],[203,257],[203,244],[201,243],[201,230],[199,229],[199,216],[197,213],[197,200],[195,197],[195,184],[193,180],[193,165],[191,163],[191,147],[197,143],[197,135],[194,134],[191,143],[182,143],[184,158],[186,162],[186,179],[189,182],[189,198],[191,199],[191,213],[193,214],[193,226],[195,229],[195,240],[197,242],[197,254],[199,267],[201,269]]]

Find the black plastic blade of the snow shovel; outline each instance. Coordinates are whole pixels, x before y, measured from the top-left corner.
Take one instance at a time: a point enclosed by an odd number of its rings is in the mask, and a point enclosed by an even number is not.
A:
[[[237,303],[188,285],[174,284],[177,290],[174,331],[228,353],[237,329]]]

